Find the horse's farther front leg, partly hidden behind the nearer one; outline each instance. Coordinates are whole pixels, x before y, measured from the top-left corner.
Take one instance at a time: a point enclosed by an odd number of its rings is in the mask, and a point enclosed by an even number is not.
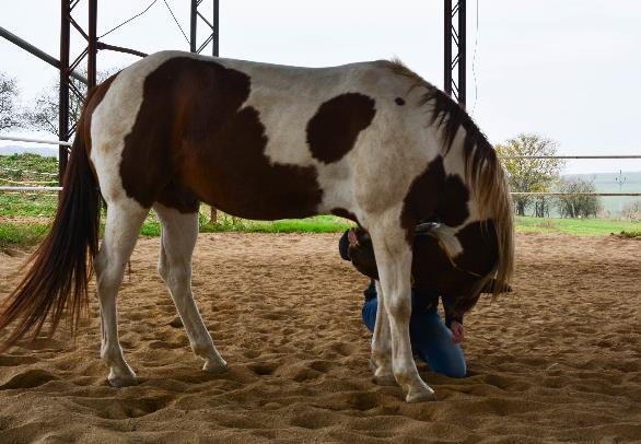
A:
[[[376,281],[376,324],[372,335],[372,363],[374,364],[374,381],[378,385],[396,385],[392,371],[392,336],[389,334],[389,317],[385,309],[385,294],[381,282]]]

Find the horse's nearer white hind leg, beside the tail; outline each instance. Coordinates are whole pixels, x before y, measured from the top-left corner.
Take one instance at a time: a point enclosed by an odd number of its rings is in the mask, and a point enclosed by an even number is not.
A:
[[[108,381],[115,387],[137,384],[136,373],[125,361],[118,340],[116,296],[148,212],[131,201],[108,202],[105,236],[95,258],[101,306],[101,358],[109,367]]]

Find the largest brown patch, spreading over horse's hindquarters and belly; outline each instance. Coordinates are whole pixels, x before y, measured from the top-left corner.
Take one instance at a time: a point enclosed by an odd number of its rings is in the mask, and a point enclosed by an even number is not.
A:
[[[242,107],[250,90],[249,75],[209,60],[178,57],[150,73],[123,152],[127,194],[144,207],[201,200],[248,219],[314,214],[316,170],[269,161],[258,110]]]

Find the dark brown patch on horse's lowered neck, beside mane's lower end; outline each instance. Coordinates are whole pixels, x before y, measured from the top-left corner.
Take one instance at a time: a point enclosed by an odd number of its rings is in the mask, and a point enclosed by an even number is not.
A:
[[[463,252],[454,258],[458,267],[487,274],[497,266],[499,246],[492,220],[465,225],[456,233],[456,238],[463,247]]]

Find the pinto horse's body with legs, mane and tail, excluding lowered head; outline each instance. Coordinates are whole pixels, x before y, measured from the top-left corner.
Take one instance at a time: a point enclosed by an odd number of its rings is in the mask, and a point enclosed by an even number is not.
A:
[[[456,234],[492,220],[499,257],[483,279],[501,288],[512,274],[511,200],[492,147],[462,107],[401,62],[298,68],[161,51],[89,94],[53,227],[3,304],[0,331],[20,319],[4,347],[35,338],[46,319],[53,335],[65,314],[77,331],[95,270],[107,379],[137,384],[118,340],[116,295],[153,208],[158,270],[191,349],[203,370],[224,371],[191,293],[199,202],[255,220],[333,213],[366,229],[385,307],[374,379],[399,384],[407,401],[435,398],[409,343],[417,222],[438,214]]]

